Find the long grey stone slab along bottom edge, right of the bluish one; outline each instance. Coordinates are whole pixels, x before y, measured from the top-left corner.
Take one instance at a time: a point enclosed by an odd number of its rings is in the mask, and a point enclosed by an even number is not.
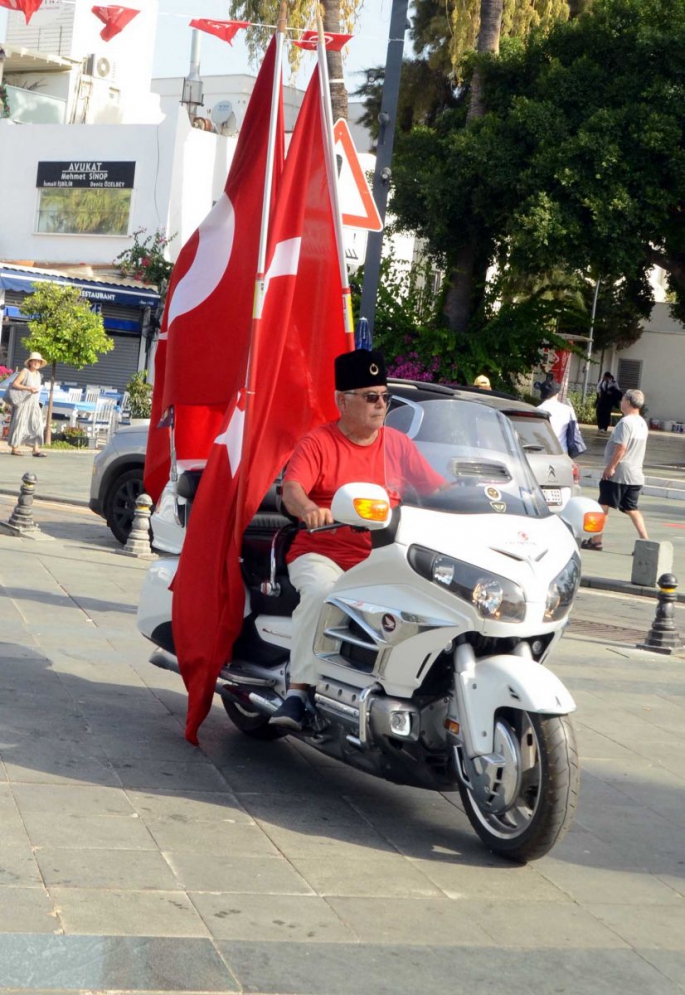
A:
[[[495,946],[350,945],[219,940],[251,995],[682,995],[632,950],[525,950]]]

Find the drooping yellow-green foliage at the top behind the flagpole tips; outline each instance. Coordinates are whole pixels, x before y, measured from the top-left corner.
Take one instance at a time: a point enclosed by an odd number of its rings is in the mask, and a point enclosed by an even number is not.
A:
[[[351,33],[357,14],[364,0],[321,0],[323,26],[326,31]],[[275,24],[278,20],[280,0],[230,0],[231,17],[240,17],[258,24]],[[318,4],[310,0],[289,0],[288,27],[296,30],[316,27]],[[247,33],[247,46],[253,60],[261,58],[271,37],[271,29],[251,28]],[[290,50],[290,64],[293,69],[299,65],[300,49]],[[347,119],[347,90],[342,82],[343,61],[341,52],[327,53],[328,72],[331,82],[331,103],[333,120]]]

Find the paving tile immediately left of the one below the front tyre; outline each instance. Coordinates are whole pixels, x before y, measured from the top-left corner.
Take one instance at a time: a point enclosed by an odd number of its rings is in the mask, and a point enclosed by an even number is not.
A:
[[[437,898],[442,893],[421,868],[399,854],[307,857],[293,866],[319,895]]]

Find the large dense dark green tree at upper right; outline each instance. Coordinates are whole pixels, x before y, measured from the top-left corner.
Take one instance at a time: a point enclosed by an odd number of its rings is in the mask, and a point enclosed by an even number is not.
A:
[[[655,263],[685,316],[684,44],[682,0],[594,0],[504,46],[480,62],[487,114],[447,112],[400,136],[396,215],[448,272],[471,246],[480,272],[497,264],[510,282],[600,277],[599,330],[619,339],[649,313]],[[484,284],[459,334],[481,333],[487,297]],[[507,304],[525,300],[519,289]]]

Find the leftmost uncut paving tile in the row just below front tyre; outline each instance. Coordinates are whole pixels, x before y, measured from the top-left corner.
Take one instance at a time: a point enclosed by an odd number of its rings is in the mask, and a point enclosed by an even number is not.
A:
[[[178,882],[157,850],[39,849],[36,860],[48,887],[174,891]]]

